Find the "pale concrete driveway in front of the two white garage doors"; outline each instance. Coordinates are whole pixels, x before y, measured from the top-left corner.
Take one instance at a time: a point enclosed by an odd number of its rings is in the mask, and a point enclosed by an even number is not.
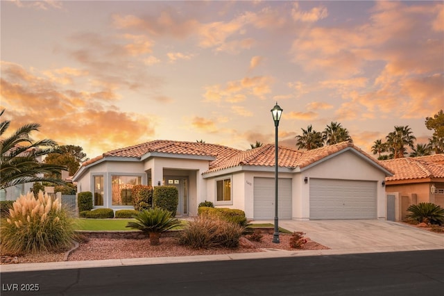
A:
[[[273,221],[267,222],[273,223]],[[279,226],[289,231],[303,231],[311,240],[330,249],[341,250],[343,254],[444,249],[444,233],[433,233],[400,222],[281,220]]]

